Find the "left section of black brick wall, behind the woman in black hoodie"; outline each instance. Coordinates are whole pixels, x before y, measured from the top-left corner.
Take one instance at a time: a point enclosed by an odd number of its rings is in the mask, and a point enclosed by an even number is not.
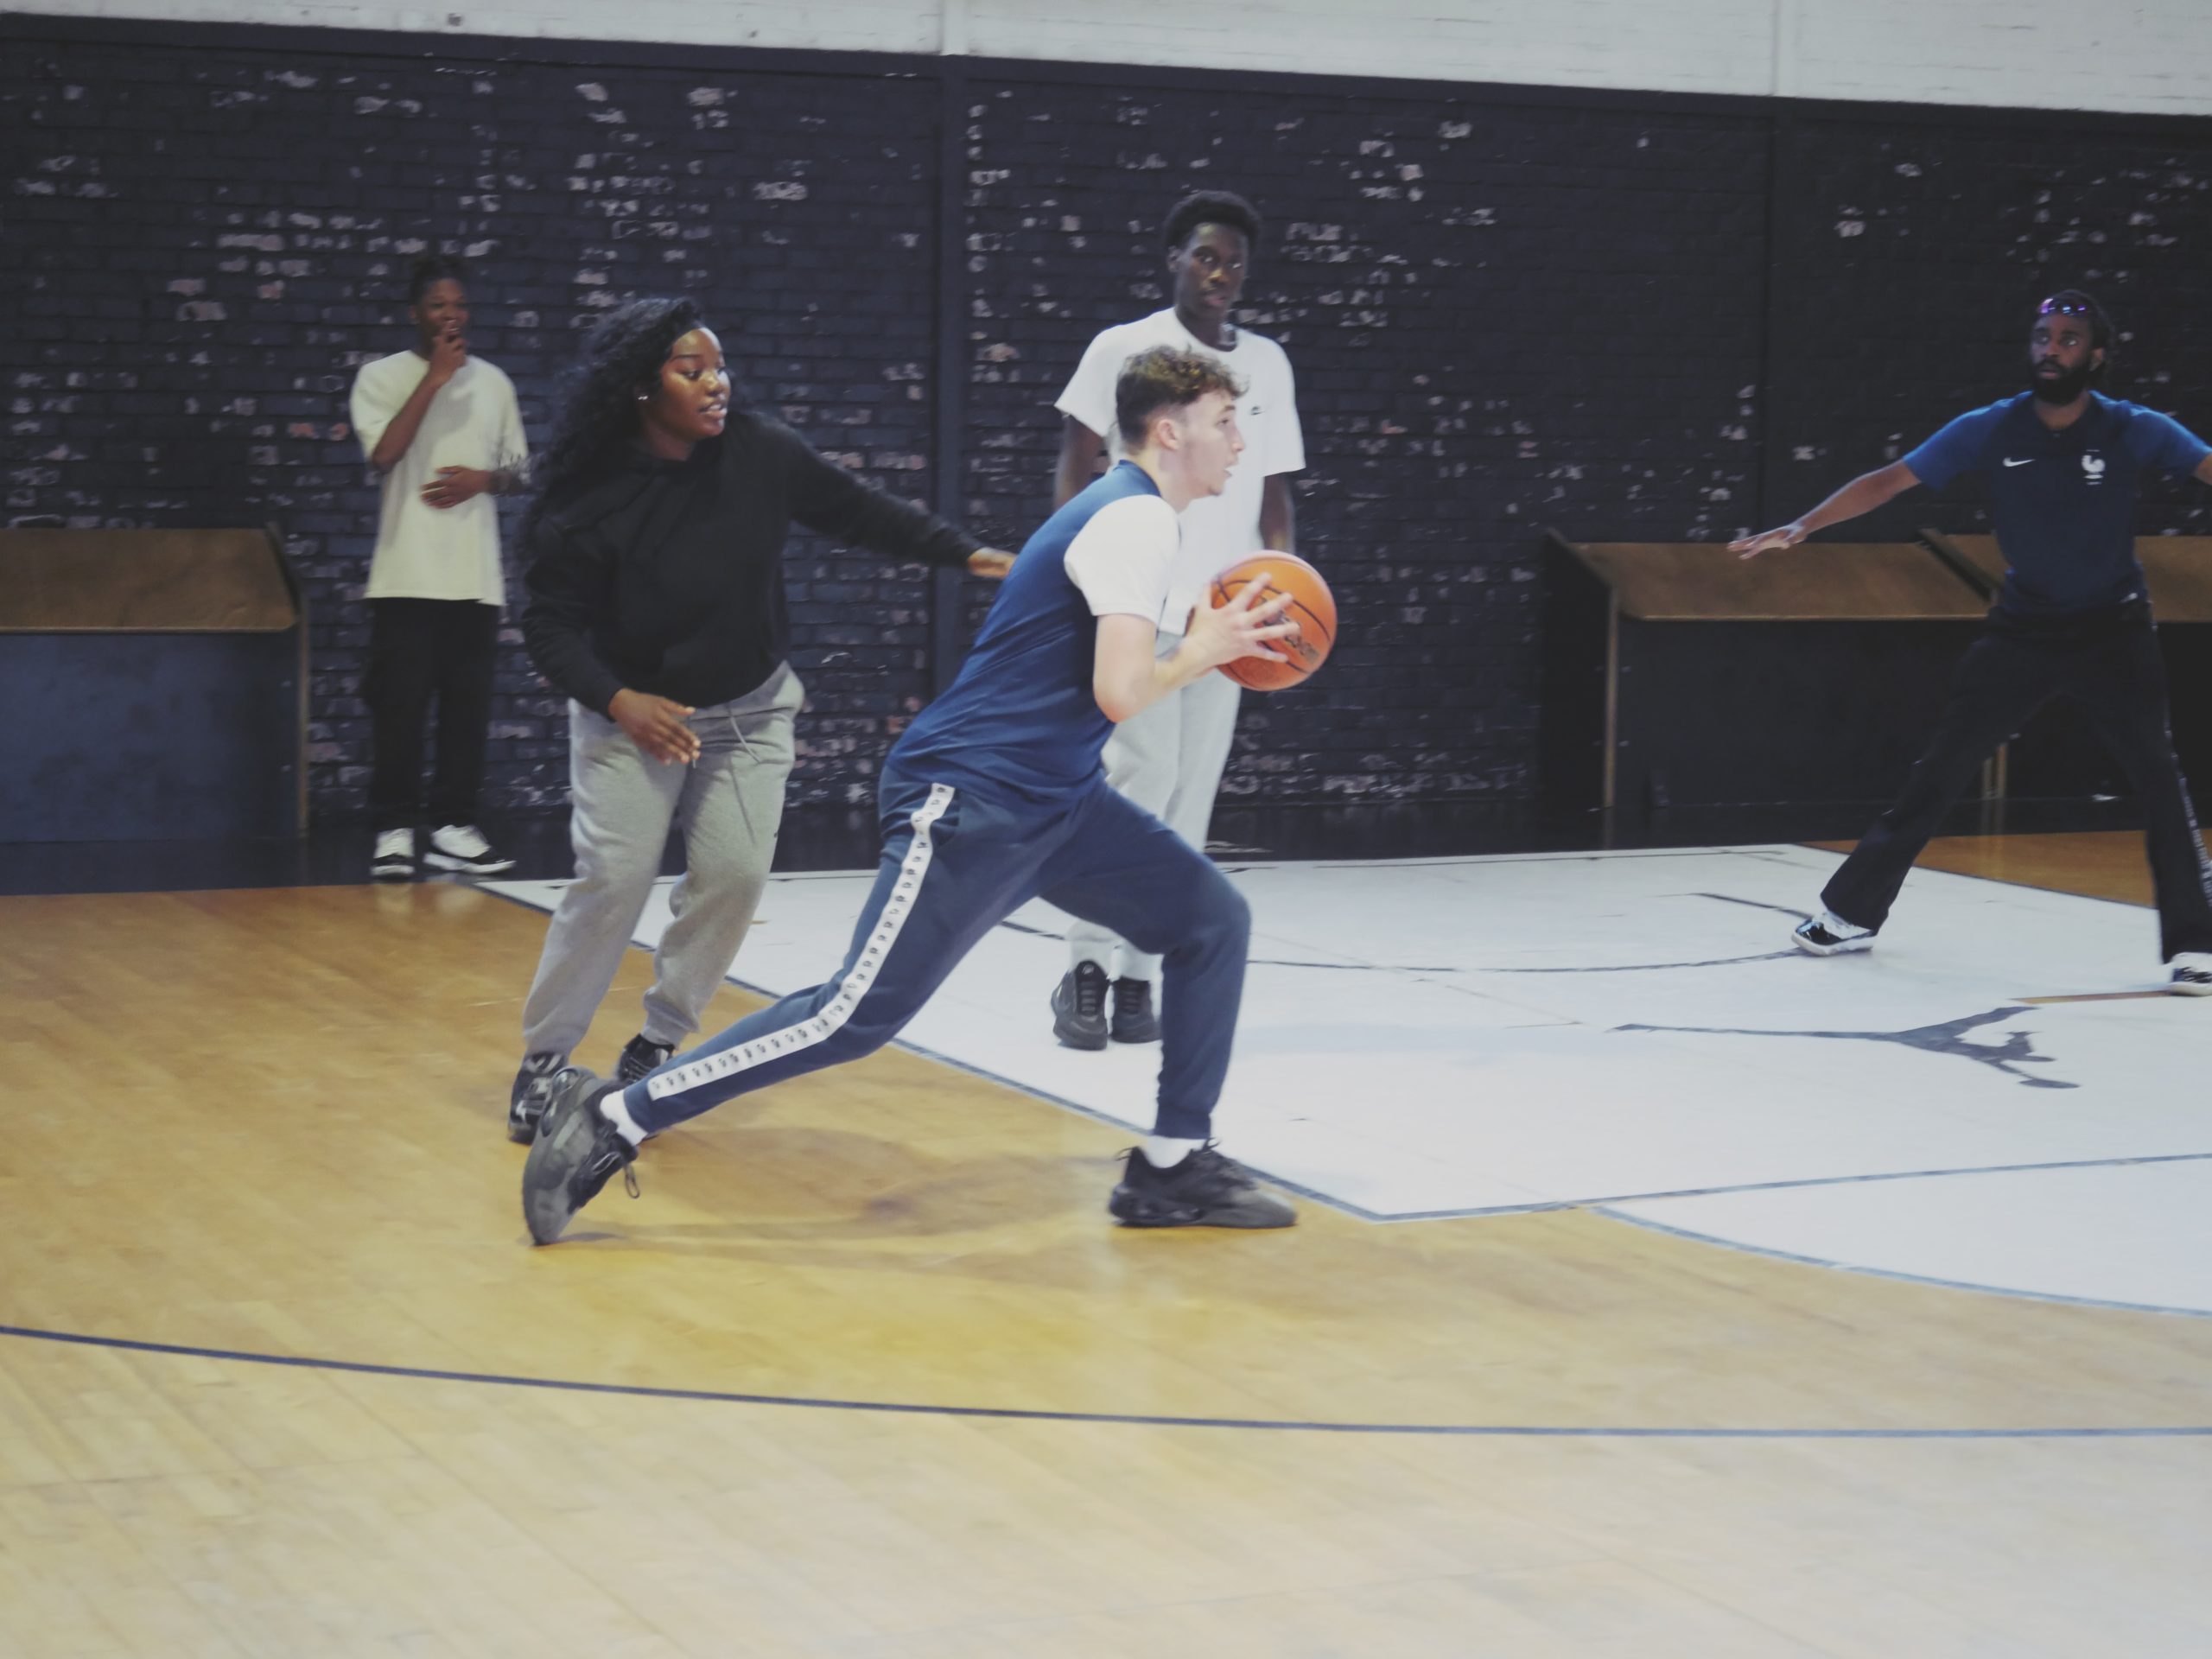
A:
[[[697,292],[757,403],[927,493],[929,86],[119,44],[11,49],[0,84],[9,515],[281,522],[314,619],[319,816],[367,783],[376,489],[347,392],[411,343],[398,283],[422,248],[471,259],[473,349],[533,440],[582,325]],[[787,575],[812,710],[792,799],[867,799],[927,695],[927,577],[814,538]],[[564,799],[566,710],[509,628],[487,814]]]

